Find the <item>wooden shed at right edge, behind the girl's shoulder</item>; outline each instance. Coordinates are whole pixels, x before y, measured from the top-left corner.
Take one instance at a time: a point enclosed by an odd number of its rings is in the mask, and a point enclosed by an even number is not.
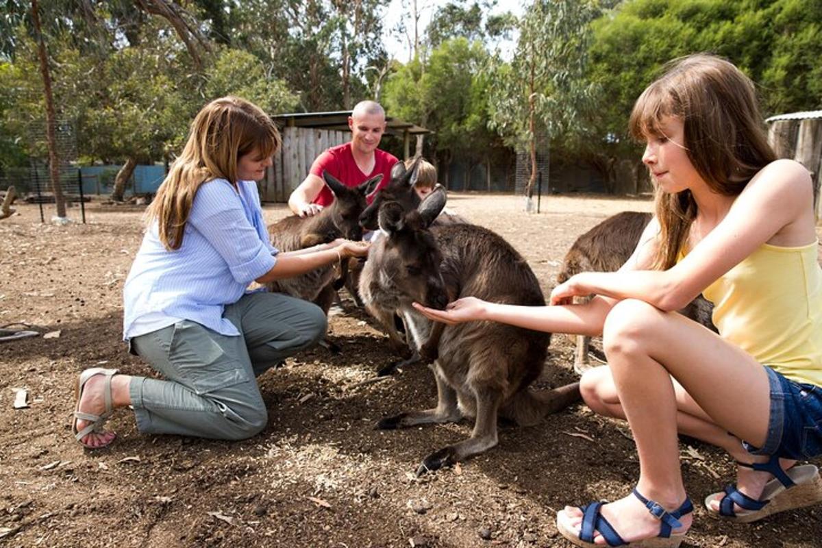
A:
[[[822,218],[822,110],[769,117],[768,142],[779,158],[792,158],[810,171],[814,182],[814,211]]]

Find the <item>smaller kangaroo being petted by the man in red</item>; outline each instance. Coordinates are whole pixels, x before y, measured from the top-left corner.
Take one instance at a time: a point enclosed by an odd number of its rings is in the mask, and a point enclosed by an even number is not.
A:
[[[271,224],[268,233],[271,243],[279,251],[296,251],[304,247],[333,242],[339,237],[349,240],[361,240],[363,228],[359,225],[359,216],[366,209],[366,198],[376,189],[382,180],[382,174],[368,179],[358,187],[346,187],[330,173],[323,172],[326,185],[334,193],[334,203],[320,213],[311,217],[291,215],[277,223]],[[340,265],[345,269],[348,265]],[[341,273],[344,277],[345,272]],[[314,302],[328,314],[328,309],[336,298],[335,279],[337,272],[334,266],[325,266],[290,279],[280,279],[268,284],[273,292],[286,293],[305,301]]]

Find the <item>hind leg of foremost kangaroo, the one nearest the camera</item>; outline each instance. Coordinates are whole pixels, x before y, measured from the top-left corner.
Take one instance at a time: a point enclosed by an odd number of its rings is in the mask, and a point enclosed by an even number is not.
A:
[[[502,391],[490,386],[478,386],[473,387],[473,393],[477,401],[477,418],[471,437],[428,455],[417,469],[418,476],[444,466],[452,466],[496,445],[496,414],[502,403]]]

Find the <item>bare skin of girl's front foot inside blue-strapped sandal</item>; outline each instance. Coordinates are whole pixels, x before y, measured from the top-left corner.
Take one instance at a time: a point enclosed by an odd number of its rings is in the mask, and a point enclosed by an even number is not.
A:
[[[661,498],[655,498],[652,500],[656,500],[659,504],[662,504],[663,508],[673,511],[679,508],[679,506],[683,503],[684,498],[685,495],[681,495],[679,500],[677,500],[677,497],[672,497],[669,500],[663,500]],[[566,506],[562,512],[566,514],[571,527],[574,527],[575,529],[580,529],[580,527],[582,527],[582,510],[576,506]],[[617,533],[619,533],[622,537],[623,541],[640,541],[642,539],[652,538],[659,535],[661,527],[660,521],[657,518],[654,518],[645,505],[633,494],[620,500],[616,500],[610,504],[604,504],[602,508],[602,516],[607,519],[608,523],[611,523]],[[694,517],[692,513],[686,513],[678,519],[682,524],[682,527],[674,529],[672,532],[681,534],[690,528],[690,524],[693,522]],[[599,531],[595,533],[593,542],[602,546],[606,545],[605,538]]]

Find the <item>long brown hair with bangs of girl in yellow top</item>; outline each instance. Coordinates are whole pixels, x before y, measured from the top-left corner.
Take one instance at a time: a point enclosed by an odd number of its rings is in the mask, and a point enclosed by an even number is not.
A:
[[[776,159],[768,145],[754,84],[731,62],[706,53],[674,59],[636,100],[630,132],[639,140],[659,135],[664,116],[681,119],[690,163],[723,196],[737,196],[750,178]],[[656,187],[660,226],[654,269],[677,262],[696,202],[690,191],[670,194]]]

